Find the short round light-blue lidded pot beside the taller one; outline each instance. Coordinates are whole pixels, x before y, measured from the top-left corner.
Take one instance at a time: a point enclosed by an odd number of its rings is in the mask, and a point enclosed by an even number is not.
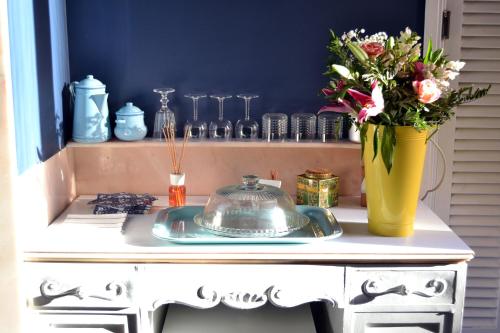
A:
[[[127,102],[116,112],[115,135],[123,141],[142,140],[148,129],[144,124],[144,111]]]

